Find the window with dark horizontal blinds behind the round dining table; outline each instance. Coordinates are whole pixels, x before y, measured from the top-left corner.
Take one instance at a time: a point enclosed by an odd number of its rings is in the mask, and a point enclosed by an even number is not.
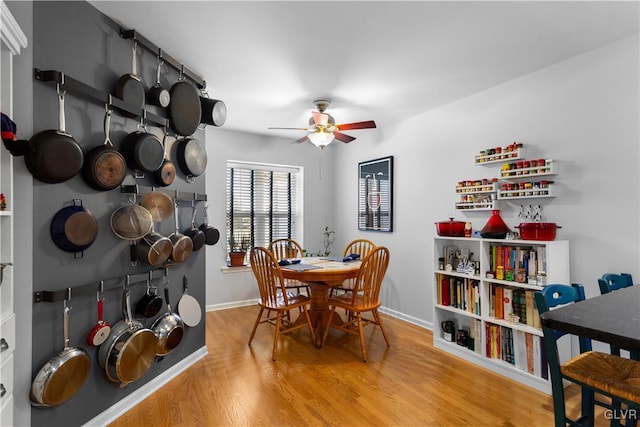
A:
[[[291,238],[302,243],[303,169],[295,166],[227,162],[227,252],[229,237],[251,246]]]

